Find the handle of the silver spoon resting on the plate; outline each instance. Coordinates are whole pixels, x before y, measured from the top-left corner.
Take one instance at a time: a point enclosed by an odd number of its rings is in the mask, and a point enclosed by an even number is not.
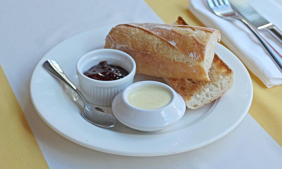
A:
[[[43,63],[43,67],[53,76],[55,76],[57,79],[64,82],[66,85],[68,85],[73,91],[76,92],[76,94],[81,98],[83,104],[87,103],[86,99],[83,97],[81,92],[76,88],[76,86],[70,81],[70,79],[65,75],[63,70],[61,69],[60,65],[55,60],[46,60]]]

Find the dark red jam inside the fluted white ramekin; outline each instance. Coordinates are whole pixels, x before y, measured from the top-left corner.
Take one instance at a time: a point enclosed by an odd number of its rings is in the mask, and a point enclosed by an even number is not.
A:
[[[86,70],[83,74],[91,79],[110,81],[124,78],[128,75],[128,72],[119,66],[102,61],[89,70]]]

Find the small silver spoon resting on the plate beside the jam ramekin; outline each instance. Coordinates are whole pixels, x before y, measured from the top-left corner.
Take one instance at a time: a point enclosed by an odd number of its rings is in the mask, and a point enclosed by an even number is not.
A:
[[[55,60],[46,60],[43,63],[43,67],[53,76],[64,82],[68,85],[76,94],[80,97],[83,102],[84,109],[82,111],[82,116],[91,124],[98,125],[101,127],[113,127],[116,125],[116,118],[107,110],[104,110],[100,107],[92,106],[88,101],[83,97],[81,92],[76,88],[76,86],[71,83],[70,79],[64,74],[63,70],[60,68],[60,65],[57,64]]]

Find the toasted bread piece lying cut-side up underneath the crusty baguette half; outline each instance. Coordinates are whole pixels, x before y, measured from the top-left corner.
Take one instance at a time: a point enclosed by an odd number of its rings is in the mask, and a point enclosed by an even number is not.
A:
[[[185,23],[182,18],[178,18],[176,22],[178,24]],[[209,77],[210,81],[163,79],[182,96],[188,108],[197,109],[223,95],[232,87],[234,82],[234,72],[217,54],[214,54]]]

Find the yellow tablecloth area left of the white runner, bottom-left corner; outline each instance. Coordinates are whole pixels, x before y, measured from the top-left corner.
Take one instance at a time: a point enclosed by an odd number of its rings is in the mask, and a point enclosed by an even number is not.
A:
[[[0,168],[49,168],[0,67]]]

